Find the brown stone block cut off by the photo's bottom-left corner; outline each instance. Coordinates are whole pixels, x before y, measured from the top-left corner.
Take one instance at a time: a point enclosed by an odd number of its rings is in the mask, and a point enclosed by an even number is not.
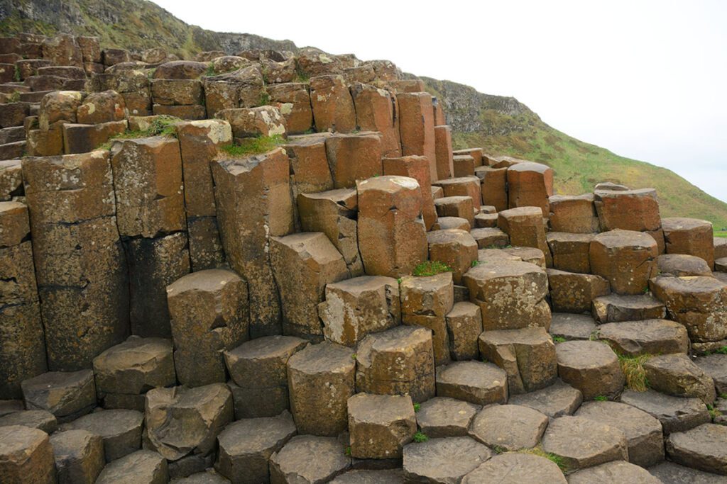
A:
[[[55,483],[47,433],[21,425],[0,427],[0,477],[8,484]]]

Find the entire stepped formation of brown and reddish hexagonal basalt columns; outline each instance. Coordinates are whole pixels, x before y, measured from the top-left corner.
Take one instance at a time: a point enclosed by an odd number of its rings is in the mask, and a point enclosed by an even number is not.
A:
[[[389,61],[214,47],[0,38],[0,482],[726,478],[709,222],[454,152]]]

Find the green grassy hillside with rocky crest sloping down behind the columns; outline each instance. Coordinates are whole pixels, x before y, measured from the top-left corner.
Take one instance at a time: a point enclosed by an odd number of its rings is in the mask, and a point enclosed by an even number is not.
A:
[[[455,149],[483,147],[491,155],[512,155],[545,163],[555,171],[558,194],[593,191],[599,181],[632,188],[656,188],[662,217],[693,217],[711,221],[715,230],[727,227],[727,203],[702,192],[673,171],[630,160],[551,128],[512,98],[490,97],[449,81],[425,79],[427,89],[441,99],[453,124]],[[476,93],[476,94],[473,94]],[[467,115],[459,98],[470,102]],[[448,110],[448,109],[451,109]],[[459,124],[459,126],[457,126]]]

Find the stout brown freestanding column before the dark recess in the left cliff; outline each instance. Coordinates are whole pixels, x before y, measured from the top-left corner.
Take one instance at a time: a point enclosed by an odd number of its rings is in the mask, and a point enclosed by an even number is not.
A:
[[[247,284],[233,271],[209,269],[170,284],[166,300],[180,382],[225,382],[222,351],[249,338]]]

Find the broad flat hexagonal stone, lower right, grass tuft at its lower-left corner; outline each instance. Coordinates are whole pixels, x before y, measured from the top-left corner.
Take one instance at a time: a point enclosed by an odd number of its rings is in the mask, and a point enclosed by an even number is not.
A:
[[[563,458],[569,471],[616,460],[628,460],[622,430],[584,417],[559,417],[548,425],[543,450]]]

